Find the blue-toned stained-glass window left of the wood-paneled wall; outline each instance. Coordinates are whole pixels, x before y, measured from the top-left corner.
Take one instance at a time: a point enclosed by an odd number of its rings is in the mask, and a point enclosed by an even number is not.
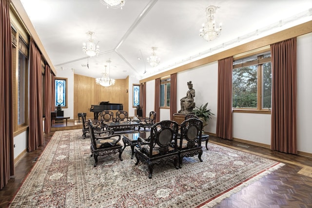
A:
[[[55,78],[55,106],[67,107],[67,79]]]

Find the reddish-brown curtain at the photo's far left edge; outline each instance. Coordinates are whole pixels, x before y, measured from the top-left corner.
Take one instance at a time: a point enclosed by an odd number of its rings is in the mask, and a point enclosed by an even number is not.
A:
[[[10,0],[0,0],[0,189],[14,170],[13,74]]]

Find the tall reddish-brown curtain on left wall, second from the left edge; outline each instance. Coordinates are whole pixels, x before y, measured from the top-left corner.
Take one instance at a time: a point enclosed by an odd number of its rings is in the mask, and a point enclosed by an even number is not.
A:
[[[31,38],[29,47],[29,134],[28,151],[43,145],[41,55]]]

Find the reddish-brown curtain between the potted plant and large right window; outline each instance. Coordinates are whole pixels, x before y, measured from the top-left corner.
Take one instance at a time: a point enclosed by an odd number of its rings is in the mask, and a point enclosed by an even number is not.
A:
[[[218,60],[218,106],[216,136],[233,139],[232,130],[232,71],[233,57]]]

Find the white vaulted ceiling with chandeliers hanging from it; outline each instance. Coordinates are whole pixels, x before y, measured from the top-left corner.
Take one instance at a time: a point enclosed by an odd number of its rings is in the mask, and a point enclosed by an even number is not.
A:
[[[312,17],[312,0],[126,0],[122,9],[99,0],[20,1],[57,70],[100,77],[111,59],[115,79],[146,78]],[[207,42],[198,34],[209,5],[220,7],[215,20],[222,22],[222,32]],[[88,31],[95,32],[98,57],[82,52]],[[160,58],[154,68],[146,63],[152,46]]]

